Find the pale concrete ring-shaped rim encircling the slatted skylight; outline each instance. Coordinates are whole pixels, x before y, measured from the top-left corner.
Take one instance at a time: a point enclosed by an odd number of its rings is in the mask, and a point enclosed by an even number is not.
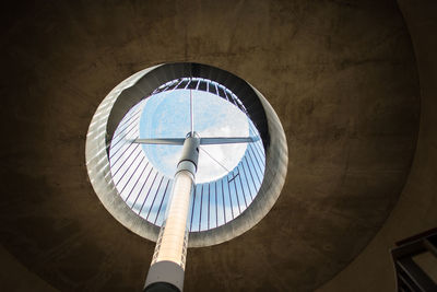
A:
[[[205,78],[232,90],[246,107],[265,150],[264,177],[252,203],[237,218],[213,230],[191,232],[189,247],[210,246],[229,241],[253,227],[273,207],[285,183],[288,163],[282,125],[271,105],[243,79],[200,63],[165,63],[144,69],[118,84],[98,106],[86,137],[86,167],[95,192],[122,225],[138,235],[156,241],[160,229],[134,213],[114,185],[108,150],[120,120],[160,85],[185,77]]]

